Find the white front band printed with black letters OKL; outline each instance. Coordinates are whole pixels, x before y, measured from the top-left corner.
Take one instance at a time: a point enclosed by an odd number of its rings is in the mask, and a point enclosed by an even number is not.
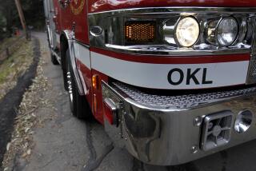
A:
[[[90,52],[91,67],[130,85],[152,89],[202,89],[246,83],[249,61],[206,64],[128,62]]]

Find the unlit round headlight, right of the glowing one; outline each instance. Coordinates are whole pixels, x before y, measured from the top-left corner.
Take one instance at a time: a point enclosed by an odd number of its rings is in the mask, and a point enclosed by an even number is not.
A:
[[[223,18],[218,24],[217,41],[221,46],[230,46],[238,36],[238,22],[234,18]]]

